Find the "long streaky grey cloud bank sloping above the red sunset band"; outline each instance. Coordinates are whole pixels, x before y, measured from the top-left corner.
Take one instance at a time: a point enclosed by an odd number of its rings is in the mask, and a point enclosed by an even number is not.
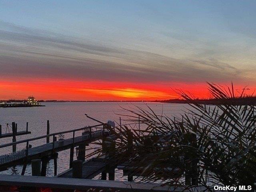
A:
[[[0,22],[2,77],[109,82],[245,81],[242,70],[216,59],[175,59]]]

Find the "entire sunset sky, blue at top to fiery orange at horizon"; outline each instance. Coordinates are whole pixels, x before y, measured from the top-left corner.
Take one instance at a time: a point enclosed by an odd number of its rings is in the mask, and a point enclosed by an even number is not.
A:
[[[256,1],[0,0],[0,100],[256,87]]]

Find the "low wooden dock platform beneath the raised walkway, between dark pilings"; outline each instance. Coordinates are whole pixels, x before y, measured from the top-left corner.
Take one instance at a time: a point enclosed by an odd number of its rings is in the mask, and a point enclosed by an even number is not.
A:
[[[104,162],[102,158],[92,158],[85,162],[83,162],[83,179],[92,179],[102,171],[106,169],[107,164]],[[62,172],[61,174],[57,175],[56,177],[61,178],[72,178],[72,168]]]

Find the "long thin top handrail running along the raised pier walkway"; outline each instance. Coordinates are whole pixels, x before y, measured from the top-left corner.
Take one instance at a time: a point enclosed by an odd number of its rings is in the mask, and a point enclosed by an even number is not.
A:
[[[55,135],[58,135],[58,134],[64,134],[64,133],[71,133],[71,132],[81,131],[81,130],[84,130],[84,129],[87,129],[87,128],[94,128],[94,127],[101,126],[101,125],[104,125],[104,124],[105,123],[94,125],[94,126],[83,127],[83,128],[79,128],[79,129],[75,129],[75,130],[69,130],[69,131],[62,131],[62,132],[52,133],[52,134],[48,134],[48,135],[44,135],[44,136],[40,136],[40,137],[35,137],[35,138],[30,138],[30,139],[26,139],[26,140],[21,140],[21,141],[16,141],[16,142],[12,142],[12,143],[6,143],[6,144],[3,144],[3,145],[0,145],[0,148],[12,146],[14,144],[20,144],[20,143],[24,143],[24,142],[34,141],[34,140],[38,140],[38,139],[42,139],[42,138],[46,138],[46,137],[50,137],[50,136],[55,136]]]

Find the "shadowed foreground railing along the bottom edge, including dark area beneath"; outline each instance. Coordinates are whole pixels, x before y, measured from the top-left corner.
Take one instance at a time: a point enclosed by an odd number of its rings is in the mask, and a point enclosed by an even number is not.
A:
[[[9,188],[16,192],[24,191],[47,191],[47,192],[87,192],[87,191],[119,191],[119,192],[181,192],[182,188],[161,186],[156,183],[136,183],[107,180],[90,180],[76,178],[56,178],[41,176],[19,176],[19,175],[0,175],[0,190],[8,191]],[[26,190],[24,190],[26,189]],[[201,188],[196,190],[203,191]],[[10,190],[9,190],[10,191]],[[184,190],[186,191],[186,190]]]

